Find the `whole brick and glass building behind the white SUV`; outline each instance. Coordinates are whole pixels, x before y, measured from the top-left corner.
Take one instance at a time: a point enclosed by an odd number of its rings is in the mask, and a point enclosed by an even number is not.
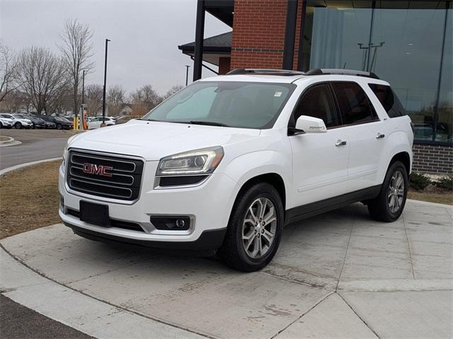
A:
[[[389,81],[415,124],[414,169],[453,173],[450,0],[197,0],[195,42],[178,48],[202,67],[357,69]],[[232,28],[204,37],[205,13]]]

